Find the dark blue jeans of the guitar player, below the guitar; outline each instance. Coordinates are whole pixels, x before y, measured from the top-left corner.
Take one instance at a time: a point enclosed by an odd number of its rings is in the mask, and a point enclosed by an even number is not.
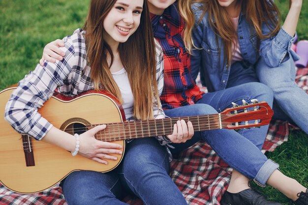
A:
[[[61,186],[68,205],[126,205],[121,202],[125,192],[135,194],[145,205],[187,205],[168,172],[166,148],[155,138],[135,139],[126,145],[115,170],[76,171]]]

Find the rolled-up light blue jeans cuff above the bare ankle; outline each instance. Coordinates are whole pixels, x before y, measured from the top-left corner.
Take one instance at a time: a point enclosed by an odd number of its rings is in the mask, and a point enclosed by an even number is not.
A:
[[[273,174],[275,170],[279,168],[279,165],[268,159],[261,167],[255,178],[253,179],[259,186],[265,187],[267,180]]]

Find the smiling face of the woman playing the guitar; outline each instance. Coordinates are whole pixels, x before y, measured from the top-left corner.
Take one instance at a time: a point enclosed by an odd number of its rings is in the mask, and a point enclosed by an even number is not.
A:
[[[104,19],[104,40],[110,47],[127,41],[140,24],[143,0],[117,0]]]

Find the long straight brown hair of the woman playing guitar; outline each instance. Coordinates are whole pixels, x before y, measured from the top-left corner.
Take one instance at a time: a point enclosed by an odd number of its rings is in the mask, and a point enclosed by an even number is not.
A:
[[[103,21],[116,1],[91,0],[84,30],[94,88],[104,88],[123,103],[120,89],[110,72],[114,56],[110,46],[104,41],[103,29]],[[154,100],[156,98],[157,102],[160,101],[156,84],[154,36],[147,0],[143,2],[138,29],[126,42],[120,43],[118,50],[134,96],[133,115],[137,119],[152,119]],[[108,56],[111,57],[110,65],[107,62]]]

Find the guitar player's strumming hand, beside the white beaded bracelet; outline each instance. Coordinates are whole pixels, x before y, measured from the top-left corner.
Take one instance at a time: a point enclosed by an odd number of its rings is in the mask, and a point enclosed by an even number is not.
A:
[[[117,156],[111,154],[122,154],[123,147],[116,143],[96,140],[94,135],[105,129],[106,125],[98,125],[80,135],[80,147],[78,154],[92,159],[96,162],[107,164],[105,159],[117,160]]]

